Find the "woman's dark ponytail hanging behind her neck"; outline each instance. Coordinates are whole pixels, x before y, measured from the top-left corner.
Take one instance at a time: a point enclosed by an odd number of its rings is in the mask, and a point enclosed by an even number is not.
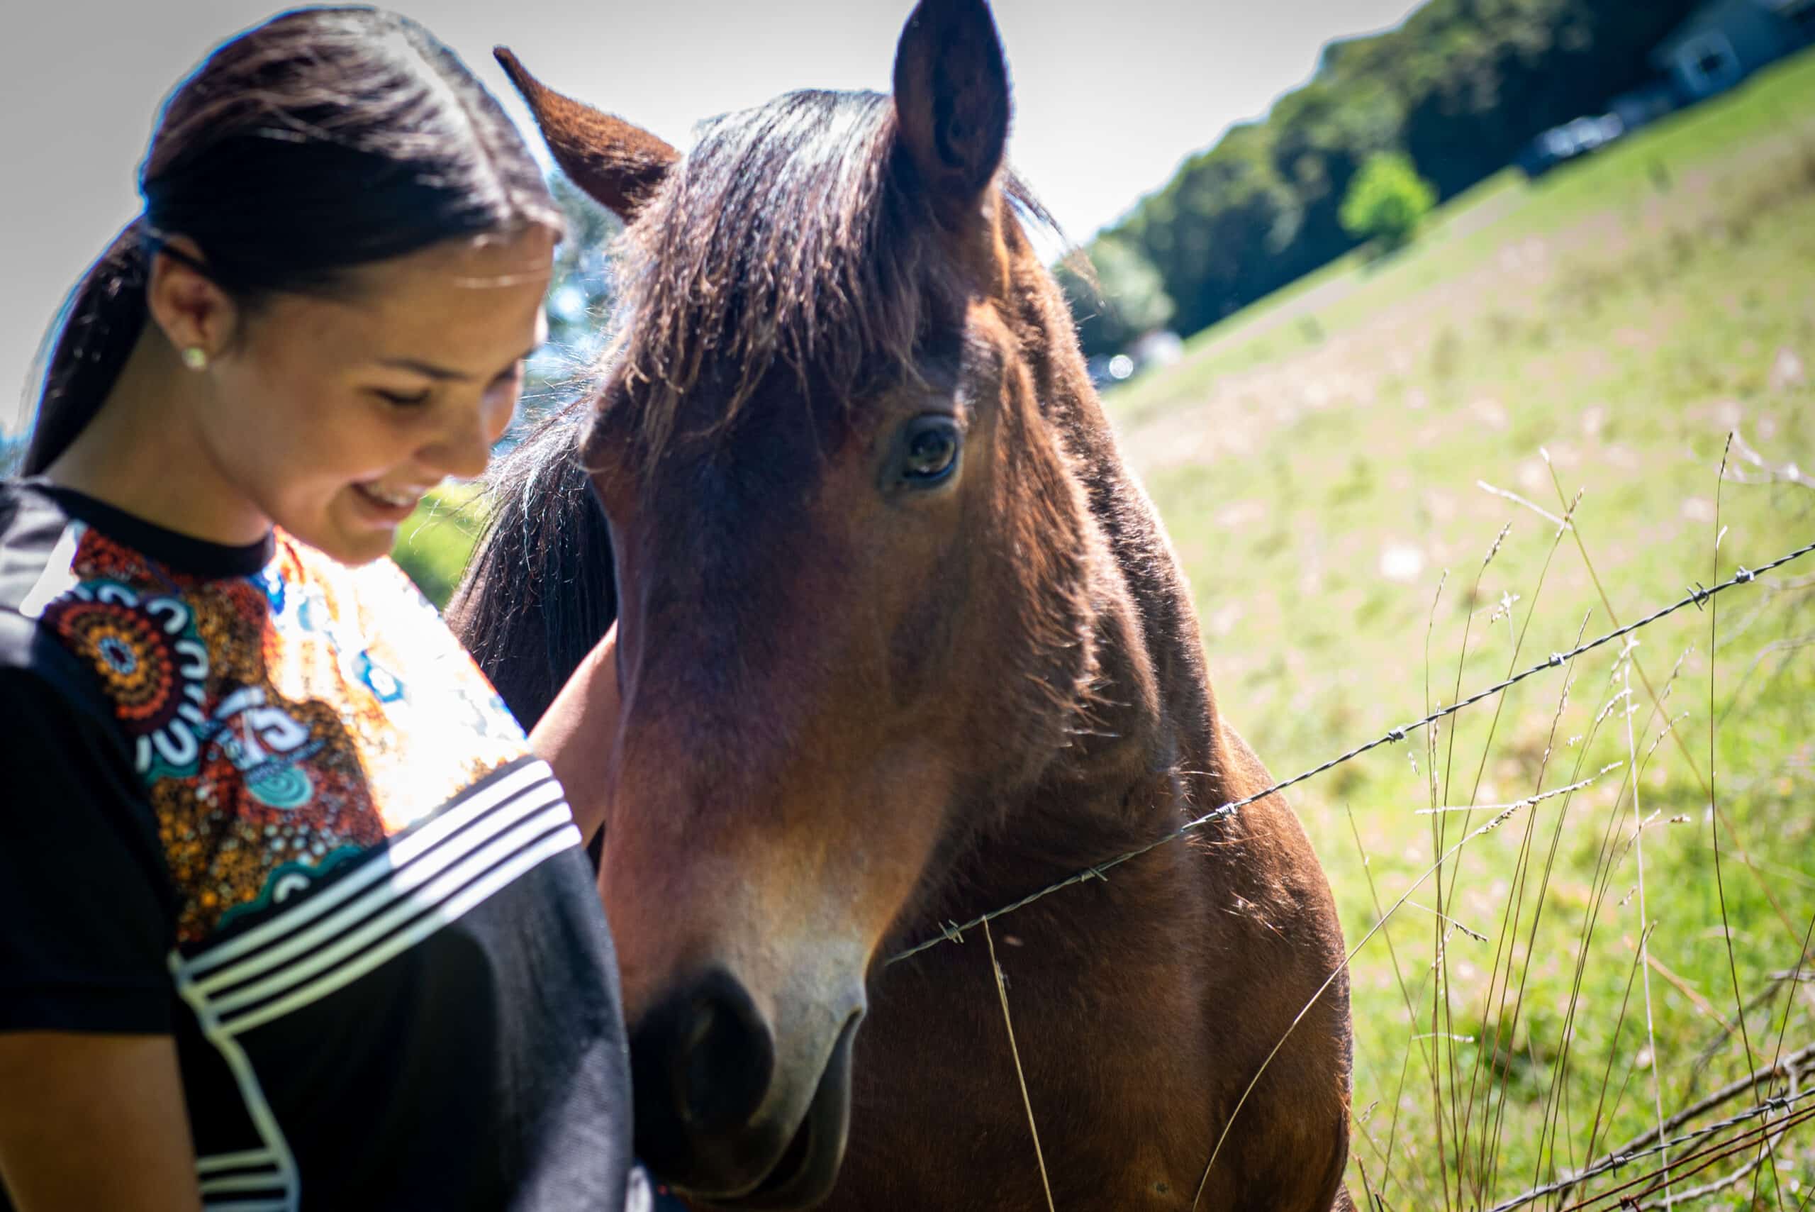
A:
[[[94,419],[145,328],[143,230],[143,220],[127,223],[64,308],[20,468],[25,475],[56,463]]]

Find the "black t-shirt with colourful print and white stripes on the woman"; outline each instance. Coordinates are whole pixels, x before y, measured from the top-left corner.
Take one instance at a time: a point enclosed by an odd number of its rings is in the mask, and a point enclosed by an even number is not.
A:
[[[0,1031],[174,1036],[203,1207],[624,1207],[579,831],[394,564],[0,481]]]

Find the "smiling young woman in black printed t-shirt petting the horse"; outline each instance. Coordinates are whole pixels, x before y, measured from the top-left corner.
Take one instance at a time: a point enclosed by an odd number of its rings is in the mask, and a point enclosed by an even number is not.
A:
[[[140,187],[0,483],[0,1208],[615,1212],[584,720],[532,746],[381,559],[510,421],[559,210],[367,9],[218,49]]]

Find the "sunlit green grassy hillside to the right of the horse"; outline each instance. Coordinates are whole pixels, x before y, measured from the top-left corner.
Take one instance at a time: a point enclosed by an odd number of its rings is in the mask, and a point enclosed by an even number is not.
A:
[[[1692,581],[1815,541],[1808,481],[1730,481],[1713,566],[1730,430],[1773,464],[1815,466],[1811,112],[1815,56],[1804,54],[1535,185],[1503,174],[1452,201],[1401,256],[1329,267],[1109,397],[1196,586],[1218,700],[1274,775],[1535,664],[1583,626],[1610,630],[1590,559],[1628,622]],[[1584,494],[1561,542],[1555,524],[1477,486],[1561,513],[1552,470],[1563,499]],[[1746,1070],[1744,1041],[1717,1034],[1717,1018],[1735,1020],[1733,976],[1746,1000],[1773,989],[1815,913],[1815,646],[1802,646],[1815,635],[1815,557],[1804,562],[1644,630],[1634,651],[1659,689],[1681,659],[1664,715],[1630,673],[1637,755],[1664,718],[1684,742],[1663,740],[1637,782],[1641,815],[1659,813],[1643,833],[1657,1090],[1644,974],[1621,1014],[1643,924],[1637,853],[1621,849],[1632,787],[1615,769],[1470,842],[1441,891],[1428,880],[1412,894],[1421,907],[1399,909],[1356,956],[1365,1123],[1354,1190],[1365,1165],[1388,1207],[1485,1207],[1584,1159],[1603,1085],[1597,1150],[1653,1123],[1655,1101],[1668,1114]],[[1506,804],[1628,757],[1624,715],[1594,729],[1628,677],[1617,646],[1568,677],[1548,762],[1563,673],[1465,711],[1434,749],[1414,735],[1294,793],[1352,942],[1465,833],[1459,813],[1414,809]],[[1702,791],[1710,744],[1719,884]],[[1606,891],[1584,943],[1597,884]],[[1456,933],[1432,967],[1443,929],[1432,909],[1490,942]],[[1762,1063],[1779,1031],[1786,1049],[1815,1040],[1815,996],[1804,987],[1786,1003],[1779,989],[1746,1023]],[[1697,1065],[1710,1040],[1712,1060]],[[1546,1134],[1552,1089],[1566,1098]],[[1795,1207],[1815,1185],[1815,1125],[1788,1139],[1777,1174]],[[1791,1197],[1790,1179],[1802,1194]],[[1751,1207],[1750,1196],[1741,1183],[1719,1207]],[[1766,1176],[1759,1207],[1779,1207],[1775,1196]]]

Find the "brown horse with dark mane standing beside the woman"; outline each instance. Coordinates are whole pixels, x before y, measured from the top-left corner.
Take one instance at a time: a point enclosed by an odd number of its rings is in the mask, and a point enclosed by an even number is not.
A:
[[[886,960],[1269,777],[1029,245],[991,16],[926,0],[893,96],[686,154],[501,60],[630,227],[599,388],[505,459],[454,617],[534,718],[615,611],[637,1147],[711,1207],[1044,1208],[986,940]],[[1056,1207],[1349,1207],[1343,942],[1285,802],[996,931]]]

